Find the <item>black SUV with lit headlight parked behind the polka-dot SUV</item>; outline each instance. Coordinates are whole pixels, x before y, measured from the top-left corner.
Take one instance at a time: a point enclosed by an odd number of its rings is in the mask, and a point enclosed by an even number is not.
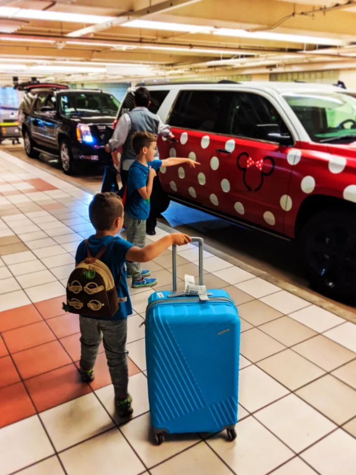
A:
[[[26,154],[41,152],[61,160],[73,175],[79,160],[107,161],[103,145],[113,133],[120,103],[100,90],[69,89],[65,85],[26,83],[19,106],[19,124]]]

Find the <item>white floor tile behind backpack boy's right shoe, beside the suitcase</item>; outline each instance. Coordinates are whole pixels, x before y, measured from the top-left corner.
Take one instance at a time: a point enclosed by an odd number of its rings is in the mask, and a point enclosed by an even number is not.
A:
[[[142,373],[135,374],[128,378],[128,392],[132,396],[133,416],[144,414],[150,410],[148,404],[147,378]],[[120,418],[115,410],[114,387],[112,384],[104,386],[95,391],[100,401],[105,406],[108,413],[116,422]]]

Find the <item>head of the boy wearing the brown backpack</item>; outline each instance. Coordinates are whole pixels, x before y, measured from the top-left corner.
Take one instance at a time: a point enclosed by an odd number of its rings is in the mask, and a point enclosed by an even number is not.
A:
[[[97,231],[107,231],[123,211],[122,200],[116,193],[97,193],[89,205],[89,219]]]

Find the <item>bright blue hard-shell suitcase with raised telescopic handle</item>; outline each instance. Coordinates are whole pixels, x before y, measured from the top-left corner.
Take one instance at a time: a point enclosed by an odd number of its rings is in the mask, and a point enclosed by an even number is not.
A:
[[[199,284],[203,285],[203,240]],[[177,289],[173,246],[173,292]],[[240,321],[224,290],[208,300],[183,292],[155,292],[146,310],[146,359],[151,426],[164,433],[219,432],[236,437]]]

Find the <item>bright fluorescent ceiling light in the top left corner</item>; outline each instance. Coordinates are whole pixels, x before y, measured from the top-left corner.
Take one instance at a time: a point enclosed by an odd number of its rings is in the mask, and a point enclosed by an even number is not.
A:
[[[0,7],[0,17],[22,18],[26,20],[52,20],[71,23],[103,23],[114,20],[114,16],[84,15],[81,13],[57,12],[52,10],[32,10],[29,8]]]

